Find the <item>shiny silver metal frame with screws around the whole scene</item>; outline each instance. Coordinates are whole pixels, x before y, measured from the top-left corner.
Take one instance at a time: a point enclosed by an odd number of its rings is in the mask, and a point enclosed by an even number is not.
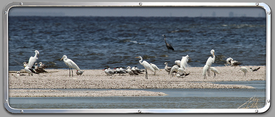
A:
[[[4,107],[10,113],[263,113],[270,107],[271,100],[271,10],[266,3],[217,3],[217,2],[20,2],[8,3],[3,11],[4,43],[3,43],[3,67],[4,67]],[[78,7],[100,7],[100,6],[172,6],[172,7],[262,7],[266,11],[266,103],[259,109],[14,109],[9,105],[8,98],[8,13],[12,7],[24,6],[78,6]],[[6,14],[5,14],[6,12]],[[268,101],[269,100],[269,101]],[[23,112],[22,112],[23,110]]]

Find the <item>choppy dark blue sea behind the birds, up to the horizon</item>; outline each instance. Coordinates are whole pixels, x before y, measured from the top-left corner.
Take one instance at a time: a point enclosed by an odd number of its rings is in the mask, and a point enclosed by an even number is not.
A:
[[[164,37],[175,51],[168,53]],[[243,65],[266,64],[266,18],[252,17],[41,17],[9,16],[9,70],[23,69],[34,51],[48,68],[67,69],[63,55],[80,69],[139,66],[138,56],[164,68],[189,55],[202,67],[232,57]]]

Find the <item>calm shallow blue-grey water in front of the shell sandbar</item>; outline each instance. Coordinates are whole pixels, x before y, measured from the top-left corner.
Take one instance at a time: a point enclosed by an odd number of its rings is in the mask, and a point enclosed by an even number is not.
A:
[[[164,92],[167,96],[109,97],[10,97],[17,109],[236,109],[251,97],[258,107],[265,106],[265,81],[212,82],[252,86],[255,89],[53,89],[66,91],[146,90]]]

